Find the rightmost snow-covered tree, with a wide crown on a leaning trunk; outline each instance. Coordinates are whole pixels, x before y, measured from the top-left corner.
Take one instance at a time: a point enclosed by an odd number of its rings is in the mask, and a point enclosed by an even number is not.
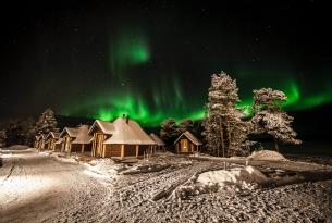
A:
[[[296,132],[292,128],[293,117],[281,108],[287,97],[283,91],[271,88],[254,90],[254,112],[251,119],[253,133],[269,134],[274,139],[275,150],[279,151],[278,143],[300,144],[296,139]]]

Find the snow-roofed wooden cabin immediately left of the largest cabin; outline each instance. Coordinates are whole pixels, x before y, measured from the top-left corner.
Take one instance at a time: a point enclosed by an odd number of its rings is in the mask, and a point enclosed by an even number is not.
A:
[[[87,125],[82,125],[77,128],[77,137],[72,141],[71,151],[91,151],[93,136],[88,135],[88,132],[89,128]]]

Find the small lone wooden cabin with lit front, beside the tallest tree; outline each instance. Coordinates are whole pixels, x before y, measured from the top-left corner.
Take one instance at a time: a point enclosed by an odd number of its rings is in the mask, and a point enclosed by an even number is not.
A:
[[[189,154],[198,152],[201,141],[190,132],[186,131],[174,141],[176,153]]]

